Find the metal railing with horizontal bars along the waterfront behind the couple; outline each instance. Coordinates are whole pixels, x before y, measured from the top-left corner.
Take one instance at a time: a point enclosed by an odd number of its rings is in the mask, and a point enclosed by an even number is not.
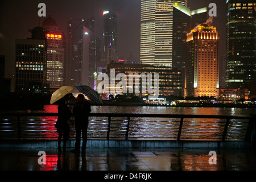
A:
[[[0,139],[57,139],[57,113],[0,113],[0,120]],[[254,136],[253,115],[89,115],[88,139],[255,142]],[[73,125],[70,138],[75,138]]]

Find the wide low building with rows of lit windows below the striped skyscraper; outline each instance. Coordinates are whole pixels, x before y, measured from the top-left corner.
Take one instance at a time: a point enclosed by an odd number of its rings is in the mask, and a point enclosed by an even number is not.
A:
[[[127,85],[127,93],[135,93],[134,90],[138,89],[139,94],[138,96],[147,96],[148,92],[143,93],[143,85],[142,85],[142,77],[141,75],[144,74],[148,77],[148,74],[152,74],[152,86],[155,84],[154,74],[158,74],[158,85],[159,85],[159,94],[167,94],[171,95],[174,94],[178,96],[182,92],[181,88],[181,71],[177,69],[172,69],[171,67],[166,66],[154,66],[152,64],[123,64],[123,63],[112,63],[108,65],[106,70],[106,74],[109,76],[109,85],[106,86],[107,90],[116,90],[112,88],[111,84],[112,81],[114,82],[114,86],[120,85],[120,78],[116,78],[116,80],[112,80],[111,76],[111,69],[114,69],[114,76],[117,77],[119,73],[124,73],[127,77],[125,81]],[[139,77],[139,78],[138,78]],[[135,84],[135,80],[138,78],[139,84]],[[130,84],[131,83],[131,84]],[[118,86],[117,86],[118,87]],[[122,85],[123,87],[123,85]],[[133,89],[132,89],[133,88]],[[148,89],[148,88],[147,88]],[[155,88],[154,88],[155,89]],[[130,92],[129,90],[133,90]],[[106,92],[108,93],[108,92]],[[116,92],[116,94],[122,94],[122,92]]]

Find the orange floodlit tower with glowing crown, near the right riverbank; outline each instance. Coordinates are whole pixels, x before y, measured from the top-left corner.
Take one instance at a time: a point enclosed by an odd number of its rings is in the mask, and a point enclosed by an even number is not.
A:
[[[185,96],[219,97],[218,42],[216,27],[206,23],[187,34]]]

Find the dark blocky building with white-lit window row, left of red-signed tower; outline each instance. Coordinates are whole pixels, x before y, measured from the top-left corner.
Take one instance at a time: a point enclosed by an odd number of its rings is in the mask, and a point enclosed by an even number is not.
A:
[[[44,93],[46,86],[46,30],[35,27],[31,38],[15,40],[15,92]]]

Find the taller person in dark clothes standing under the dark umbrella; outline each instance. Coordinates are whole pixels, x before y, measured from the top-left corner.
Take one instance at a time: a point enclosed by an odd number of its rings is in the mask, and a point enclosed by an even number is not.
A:
[[[82,133],[82,152],[85,152],[87,143],[87,129],[89,123],[90,104],[84,98],[83,94],[77,96],[77,102],[73,107],[73,114],[75,116],[75,129],[76,129],[76,143],[75,149],[71,152],[80,151],[81,133]]]

